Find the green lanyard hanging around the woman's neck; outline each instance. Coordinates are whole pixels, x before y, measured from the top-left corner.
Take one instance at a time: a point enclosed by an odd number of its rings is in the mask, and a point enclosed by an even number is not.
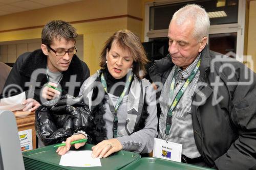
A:
[[[123,92],[119,96],[119,98],[117,100],[117,103],[116,103],[116,106],[113,109],[114,111],[112,111],[112,113],[114,112],[113,113],[114,114],[114,120],[113,120],[113,128],[112,128],[112,130],[113,130],[113,137],[117,137],[117,124],[118,124],[117,110],[118,110],[118,107],[120,106],[120,104],[121,104],[121,102],[123,100],[123,97],[124,97],[126,91],[128,90],[128,88],[129,88],[129,86],[130,86],[130,84],[132,82],[132,77],[133,77],[133,73],[131,72],[131,74],[129,75],[128,80],[126,80],[126,82],[125,82],[125,86],[124,86]],[[106,87],[106,80],[104,78],[103,72],[101,74],[101,83],[102,83],[102,86],[103,86],[106,94],[108,94],[108,88]],[[112,110],[111,107],[114,107],[114,106],[113,106],[113,103],[112,103],[110,98],[109,98],[109,104],[110,104],[110,110]]]

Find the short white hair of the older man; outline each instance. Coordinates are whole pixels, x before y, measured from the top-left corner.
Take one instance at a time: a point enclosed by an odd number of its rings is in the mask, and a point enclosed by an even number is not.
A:
[[[174,13],[171,22],[175,20],[178,25],[182,25],[187,19],[194,21],[193,36],[198,41],[208,37],[210,20],[204,8],[196,4],[186,5]]]

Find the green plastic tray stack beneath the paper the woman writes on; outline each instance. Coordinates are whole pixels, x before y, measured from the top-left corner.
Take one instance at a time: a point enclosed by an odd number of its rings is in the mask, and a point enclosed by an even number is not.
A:
[[[92,144],[86,144],[81,147],[82,150],[91,150]],[[71,150],[76,150],[72,149]],[[38,148],[35,150],[27,151],[23,153],[23,160],[26,170],[63,170],[63,169],[120,169],[125,165],[140,158],[139,154],[119,151],[110,155],[107,158],[100,159],[101,167],[70,167],[59,165],[60,157],[56,152],[56,148],[53,145],[47,147]]]

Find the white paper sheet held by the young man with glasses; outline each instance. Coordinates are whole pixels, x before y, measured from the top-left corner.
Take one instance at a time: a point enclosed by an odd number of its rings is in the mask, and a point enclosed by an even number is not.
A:
[[[0,100],[0,110],[22,110],[25,105],[22,103],[26,100],[25,91],[18,95],[11,96]]]

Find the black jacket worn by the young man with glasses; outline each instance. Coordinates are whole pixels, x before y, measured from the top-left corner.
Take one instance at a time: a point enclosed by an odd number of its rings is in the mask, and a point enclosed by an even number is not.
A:
[[[20,55],[17,61],[14,63],[13,68],[6,80],[3,91],[3,98],[7,98],[8,96],[19,94],[23,91],[26,91],[26,99],[27,98],[34,98],[39,103],[44,103],[45,100],[40,99],[41,89],[44,87],[46,83],[48,83],[47,76],[46,76],[46,65],[47,65],[47,56],[42,52],[41,49],[35,50],[32,53],[24,53]],[[41,74],[33,76],[33,72],[41,68]],[[62,72],[63,77],[60,81],[59,85],[62,88],[63,94],[71,94],[73,96],[78,96],[80,86],[82,83],[90,76],[90,70],[86,63],[81,61],[76,55],[73,56],[71,63],[69,65],[68,70]],[[75,80],[71,80],[71,76],[76,75]],[[36,83],[32,85],[26,85],[26,82],[30,82],[31,80],[35,80]],[[79,82],[79,85],[75,84]],[[69,82],[69,85],[66,83]],[[72,85],[71,85],[72,84]],[[72,87],[74,90],[72,90]],[[9,87],[9,88],[8,88]],[[33,89],[33,90],[29,90]],[[70,90],[70,91],[69,91]]]

